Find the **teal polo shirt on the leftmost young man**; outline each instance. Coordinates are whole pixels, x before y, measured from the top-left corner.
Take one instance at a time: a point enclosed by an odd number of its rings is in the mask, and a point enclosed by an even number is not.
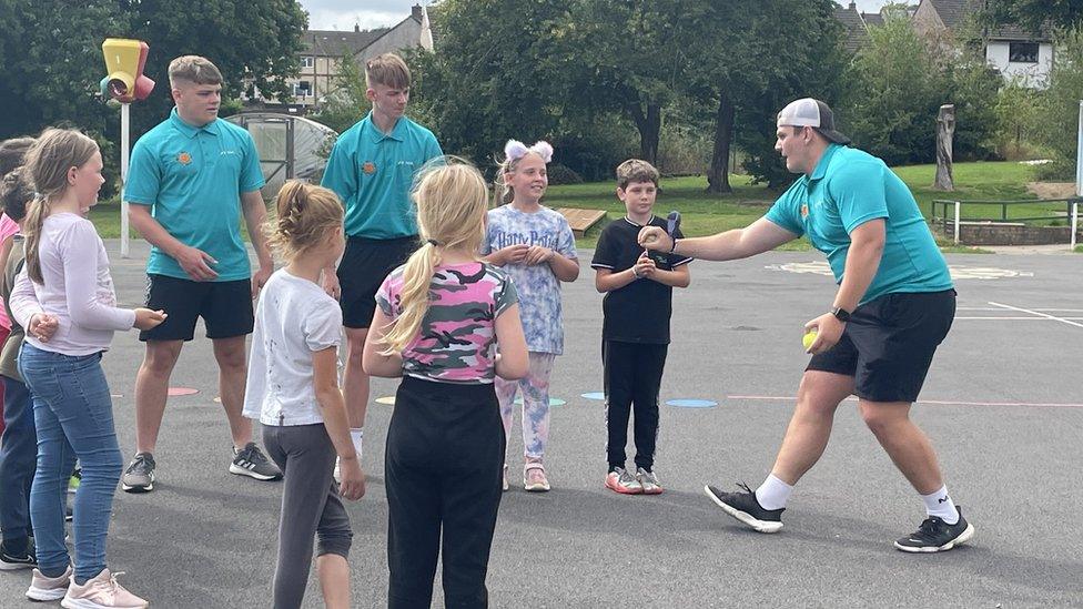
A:
[[[244,129],[222,119],[192,126],[176,113],[135,142],[124,200],[148,205],[174,238],[211,255],[229,282],[251,276],[241,240],[241,193],[264,184],[255,142]],[[146,273],[190,278],[175,260],[151,248]]]

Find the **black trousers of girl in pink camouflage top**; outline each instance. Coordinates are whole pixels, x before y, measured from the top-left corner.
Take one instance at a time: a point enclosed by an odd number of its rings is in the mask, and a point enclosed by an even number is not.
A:
[[[488,606],[505,443],[492,384],[403,377],[385,456],[388,608],[429,608],[442,550],[445,606]]]

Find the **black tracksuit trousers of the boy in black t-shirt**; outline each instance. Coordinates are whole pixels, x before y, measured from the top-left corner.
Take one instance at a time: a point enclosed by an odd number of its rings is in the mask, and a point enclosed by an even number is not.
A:
[[[650,471],[658,439],[658,390],[669,345],[603,341],[606,453],[609,469],[625,467],[628,417],[635,412],[636,466]]]

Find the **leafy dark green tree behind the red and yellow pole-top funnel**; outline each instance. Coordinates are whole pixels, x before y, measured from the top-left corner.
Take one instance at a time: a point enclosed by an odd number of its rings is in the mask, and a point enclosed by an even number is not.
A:
[[[132,113],[135,134],[168,114],[166,68],[181,54],[215,62],[227,95],[257,87],[273,98],[298,70],[305,22],[294,0],[0,0],[0,136],[63,121],[112,136],[115,112],[98,94],[110,37],[150,44],[146,73],[156,87]]]

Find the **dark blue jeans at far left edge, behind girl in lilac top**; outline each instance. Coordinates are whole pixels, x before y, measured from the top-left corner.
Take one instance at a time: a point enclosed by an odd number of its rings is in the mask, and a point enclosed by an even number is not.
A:
[[[30,535],[30,483],[38,458],[38,435],[27,386],[7,376],[3,383],[3,439],[0,443],[0,529],[9,550],[24,547]]]

